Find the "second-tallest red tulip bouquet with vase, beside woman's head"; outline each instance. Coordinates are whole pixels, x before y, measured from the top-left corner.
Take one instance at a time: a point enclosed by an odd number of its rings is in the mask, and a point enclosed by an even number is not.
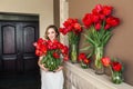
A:
[[[76,62],[78,59],[78,46],[80,40],[80,34],[82,32],[81,24],[78,19],[69,18],[63,22],[63,27],[60,28],[62,34],[68,34],[70,44],[70,57],[72,62]]]

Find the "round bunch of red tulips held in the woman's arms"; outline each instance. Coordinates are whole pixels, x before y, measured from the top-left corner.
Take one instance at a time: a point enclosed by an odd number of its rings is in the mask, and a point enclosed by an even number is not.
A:
[[[50,71],[58,69],[63,61],[69,59],[68,47],[58,40],[51,41],[40,38],[33,46],[35,47],[35,55],[40,57],[43,56],[41,63]]]

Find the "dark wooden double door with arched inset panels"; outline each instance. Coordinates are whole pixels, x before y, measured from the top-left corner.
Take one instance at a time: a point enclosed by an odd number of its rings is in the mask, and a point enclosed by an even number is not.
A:
[[[33,22],[0,21],[0,71],[6,73],[39,70],[33,42],[39,24]]]

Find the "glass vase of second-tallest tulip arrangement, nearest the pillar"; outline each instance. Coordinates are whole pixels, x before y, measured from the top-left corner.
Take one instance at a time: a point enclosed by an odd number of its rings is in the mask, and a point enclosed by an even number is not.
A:
[[[70,44],[70,57],[71,57],[72,63],[78,62],[78,44],[76,43]]]

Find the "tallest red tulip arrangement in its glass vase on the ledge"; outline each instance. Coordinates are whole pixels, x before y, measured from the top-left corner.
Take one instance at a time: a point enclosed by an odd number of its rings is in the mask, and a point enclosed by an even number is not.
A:
[[[82,21],[86,29],[86,38],[90,43],[91,53],[94,55],[94,66],[102,69],[101,59],[104,55],[104,47],[112,37],[112,30],[120,24],[120,19],[112,16],[113,7],[96,4],[91,13],[86,13]]]

